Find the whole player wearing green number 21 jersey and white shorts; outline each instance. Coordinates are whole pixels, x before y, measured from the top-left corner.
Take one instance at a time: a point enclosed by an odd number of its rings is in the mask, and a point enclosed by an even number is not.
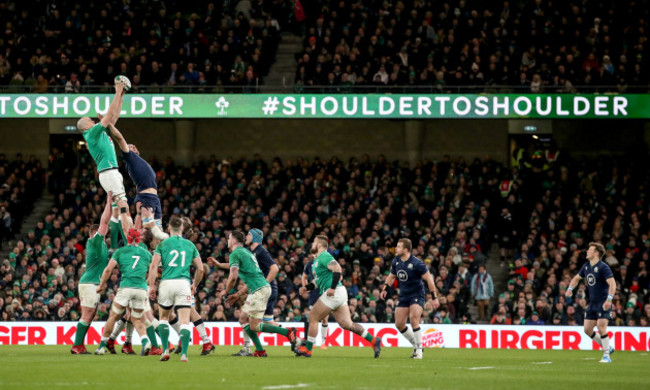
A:
[[[167,346],[169,341],[169,318],[171,311],[176,307],[179,322],[181,323],[181,361],[187,362],[187,349],[190,343],[192,328],[190,322],[190,308],[196,287],[203,279],[203,262],[199,251],[194,244],[183,238],[183,222],[181,218],[173,216],[169,221],[170,237],[158,244],[154,251],[153,261],[149,269],[149,296],[156,299],[156,280],[158,279],[158,263],[162,261],[162,277],[160,281],[160,294],[158,306],[160,307],[160,325],[158,330],[162,345]],[[194,280],[190,284],[190,266],[194,264]],[[169,349],[165,349],[161,361],[169,360]]]

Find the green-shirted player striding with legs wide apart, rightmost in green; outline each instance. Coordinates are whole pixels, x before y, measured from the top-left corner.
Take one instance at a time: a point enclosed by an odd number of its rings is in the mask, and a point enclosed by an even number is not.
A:
[[[318,323],[332,313],[341,328],[370,342],[375,351],[375,358],[378,358],[381,352],[381,338],[373,337],[361,325],[352,322],[348,308],[348,293],[341,284],[341,265],[327,252],[327,246],[327,236],[318,235],[314,238],[311,253],[316,257],[313,264],[316,283],[312,282],[307,286],[300,287],[300,294],[305,294],[306,291],[318,287],[321,296],[309,315],[307,343],[295,351],[296,356],[311,357],[311,351],[318,335]]]

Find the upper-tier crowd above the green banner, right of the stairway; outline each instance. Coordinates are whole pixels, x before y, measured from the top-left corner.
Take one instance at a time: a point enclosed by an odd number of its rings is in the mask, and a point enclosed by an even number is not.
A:
[[[648,1],[308,3],[298,88],[575,93],[650,81]]]

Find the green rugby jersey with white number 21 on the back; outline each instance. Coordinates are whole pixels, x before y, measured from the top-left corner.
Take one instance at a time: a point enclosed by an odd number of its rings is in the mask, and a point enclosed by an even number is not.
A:
[[[192,241],[181,236],[171,236],[158,244],[154,252],[162,259],[161,280],[187,279],[192,282],[190,266],[192,260],[200,257]]]

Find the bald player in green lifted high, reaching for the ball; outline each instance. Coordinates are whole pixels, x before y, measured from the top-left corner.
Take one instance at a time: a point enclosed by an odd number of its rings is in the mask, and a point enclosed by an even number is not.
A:
[[[77,122],[77,130],[83,134],[88,152],[97,164],[99,183],[106,192],[113,195],[113,203],[119,207],[122,218],[122,228],[127,232],[133,225],[131,216],[128,213],[126,191],[124,190],[124,179],[118,170],[117,155],[113,140],[107,134],[107,127],[114,125],[120,117],[122,102],[124,100],[125,87],[121,82],[115,82],[115,96],[108,107],[106,115],[100,116],[99,123],[85,116]]]

